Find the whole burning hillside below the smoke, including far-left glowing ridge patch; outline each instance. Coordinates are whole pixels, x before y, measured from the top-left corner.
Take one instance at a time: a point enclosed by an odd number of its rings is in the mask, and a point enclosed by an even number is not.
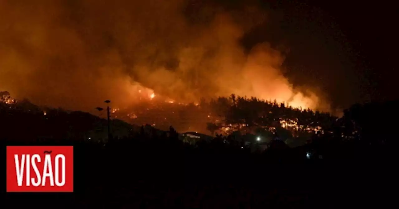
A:
[[[232,94],[228,98],[219,97],[208,101],[201,100],[199,103],[184,104],[162,98],[151,92],[141,91],[140,93],[142,93],[141,101],[130,107],[119,108],[111,103],[111,117],[138,125],[138,127],[149,125],[164,131],[172,126],[180,133],[199,132],[213,136],[215,133],[233,136],[255,134],[261,137],[262,141],[279,137],[283,140],[291,140],[290,143],[294,144],[304,143],[314,134],[335,135],[344,139],[353,139],[359,135],[359,129],[353,122],[353,124],[342,124],[342,121],[329,113],[286,107],[284,103],[279,104],[276,101],[245,98]],[[55,117],[53,113],[59,111],[38,107],[27,100],[16,103],[8,92],[2,92],[1,95],[0,102],[3,105],[0,107],[5,107],[6,111],[43,114],[44,117]],[[105,117],[106,114],[103,113],[101,111],[96,114]],[[111,129],[114,131],[120,128],[117,125],[118,121],[121,122],[120,120],[112,122]],[[333,128],[337,125],[340,128]]]

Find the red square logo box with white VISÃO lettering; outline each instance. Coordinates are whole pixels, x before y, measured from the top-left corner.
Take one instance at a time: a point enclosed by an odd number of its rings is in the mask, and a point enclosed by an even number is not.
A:
[[[73,192],[73,146],[7,146],[7,192]]]

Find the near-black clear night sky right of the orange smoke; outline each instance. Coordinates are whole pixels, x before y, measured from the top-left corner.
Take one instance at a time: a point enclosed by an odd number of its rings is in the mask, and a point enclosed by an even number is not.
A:
[[[294,84],[316,84],[333,104],[342,106],[398,99],[393,88],[397,48],[393,3],[268,2],[273,3],[264,3],[265,8],[280,19],[271,23],[273,29],[265,29],[273,31],[267,39],[289,46],[286,75]]]

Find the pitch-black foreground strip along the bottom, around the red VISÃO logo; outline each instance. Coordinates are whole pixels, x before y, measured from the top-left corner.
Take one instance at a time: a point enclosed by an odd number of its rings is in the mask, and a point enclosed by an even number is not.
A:
[[[2,208],[381,208],[394,199],[387,150],[308,160],[303,150],[253,155],[171,144],[75,144],[74,193],[5,193],[4,176]]]

